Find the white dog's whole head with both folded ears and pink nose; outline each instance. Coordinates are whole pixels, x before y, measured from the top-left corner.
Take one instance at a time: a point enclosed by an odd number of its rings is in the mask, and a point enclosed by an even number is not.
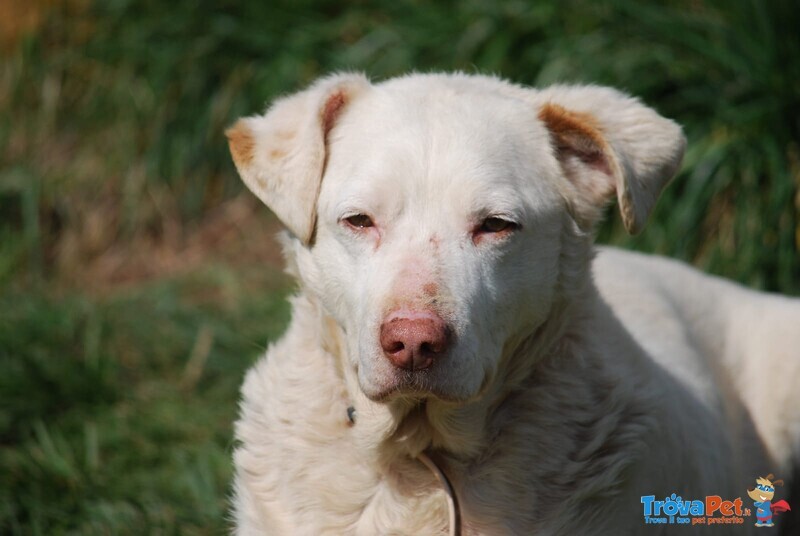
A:
[[[333,76],[228,137],[374,400],[481,393],[563,293],[565,226],[616,194],[638,232],[684,148],[617,91],[466,75]]]

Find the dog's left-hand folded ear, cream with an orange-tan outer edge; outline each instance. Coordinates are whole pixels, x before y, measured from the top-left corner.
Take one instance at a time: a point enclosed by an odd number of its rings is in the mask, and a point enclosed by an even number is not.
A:
[[[328,133],[369,85],[360,74],[324,78],[225,132],[247,187],[305,244],[314,234]]]

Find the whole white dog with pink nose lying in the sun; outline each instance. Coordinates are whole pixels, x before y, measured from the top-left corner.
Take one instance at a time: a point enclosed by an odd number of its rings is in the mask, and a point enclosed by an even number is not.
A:
[[[800,300],[593,260],[678,125],[602,87],[343,74],[227,134],[300,284],[243,388],[239,533],[754,530],[747,489],[800,444]]]

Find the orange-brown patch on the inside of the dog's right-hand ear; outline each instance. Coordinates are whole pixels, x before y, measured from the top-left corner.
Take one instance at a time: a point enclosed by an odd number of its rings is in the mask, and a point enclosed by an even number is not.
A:
[[[611,175],[611,165],[606,156],[608,145],[594,117],[547,103],[539,110],[539,119],[553,135],[559,159],[576,156],[587,166]]]

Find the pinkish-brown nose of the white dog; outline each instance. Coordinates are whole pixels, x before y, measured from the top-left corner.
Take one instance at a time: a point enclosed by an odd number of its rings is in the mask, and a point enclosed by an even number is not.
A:
[[[392,364],[422,370],[450,346],[450,328],[431,312],[393,313],[381,325],[381,348]]]

